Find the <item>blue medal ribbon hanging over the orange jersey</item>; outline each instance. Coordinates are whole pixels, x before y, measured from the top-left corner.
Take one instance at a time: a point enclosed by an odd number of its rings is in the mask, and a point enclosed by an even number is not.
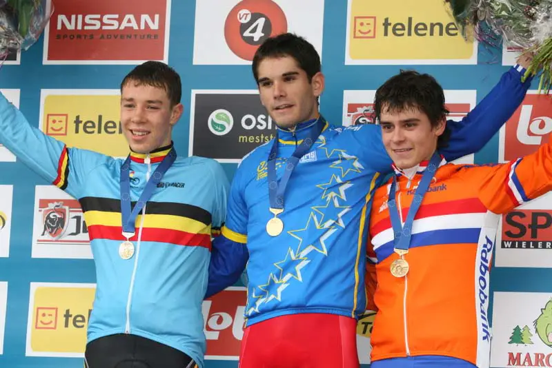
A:
[[[403,255],[408,253],[408,247],[410,247],[410,241],[412,238],[412,226],[414,223],[414,217],[420,205],[422,205],[422,200],[426,194],[429,185],[431,184],[431,179],[437,171],[437,167],[441,162],[441,156],[435,152],[429,161],[424,174],[422,175],[422,180],[418,183],[418,187],[414,194],[410,209],[408,209],[408,214],[406,215],[406,220],[404,221],[404,226],[402,226],[399,210],[397,209],[397,203],[395,201],[395,187],[397,186],[397,177],[393,176],[393,183],[391,183],[391,188],[389,189],[389,214],[391,217],[391,225],[393,225],[393,234],[394,234],[394,247],[395,253]]]

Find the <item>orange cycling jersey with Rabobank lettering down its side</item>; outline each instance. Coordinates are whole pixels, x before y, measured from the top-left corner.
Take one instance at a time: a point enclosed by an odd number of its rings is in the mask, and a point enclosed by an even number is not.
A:
[[[422,163],[409,173],[395,170],[403,223],[423,169]],[[496,165],[443,161],[415,216],[404,277],[391,274],[399,256],[387,206],[390,185],[375,192],[367,248],[368,309],[377,311],[372,360],[439,355],[489,367],[489,267],[498,221],[552,190],[551,146]]]

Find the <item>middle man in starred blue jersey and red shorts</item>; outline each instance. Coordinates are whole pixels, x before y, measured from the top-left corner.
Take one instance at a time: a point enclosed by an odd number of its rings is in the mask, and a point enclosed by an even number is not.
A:
[[[529,88],[523,72],[511,68],[463,121],[449,121],[446,159],[480,150],[509,119]],[[392,171],[380,127],[326,122],[318,111],[319,55],[294,34],[267,39],[253,74],[277,137],[238,167],[207,296],[235,283],[246,267],[240,368],[357,368],[366,218],[373,191]]]

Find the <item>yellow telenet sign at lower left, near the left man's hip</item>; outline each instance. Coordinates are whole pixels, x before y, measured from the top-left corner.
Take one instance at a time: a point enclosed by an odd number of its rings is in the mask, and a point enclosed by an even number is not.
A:
[[[31,283],[27,356],[80,357],[94,284]]]

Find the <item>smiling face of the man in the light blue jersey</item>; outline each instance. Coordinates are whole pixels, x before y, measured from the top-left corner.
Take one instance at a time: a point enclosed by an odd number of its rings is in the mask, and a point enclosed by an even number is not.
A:
[[[128,81],[121,91],[121,125],[130,149],[147,154],[170,145],[183,109],[181,103],[171,106],[163,88]]]

